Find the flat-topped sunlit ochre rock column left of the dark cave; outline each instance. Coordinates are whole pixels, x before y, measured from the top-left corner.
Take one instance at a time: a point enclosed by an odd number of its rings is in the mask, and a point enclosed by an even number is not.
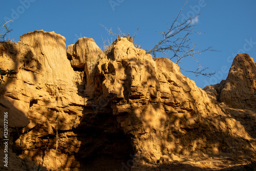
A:
[[[0,87],[0,111],[8,112],[10,133],[19,135],[18,139],[10,139],[16,140],[16,147],[23,149],[20,157],[27,156],[36,165],[40,162],[53,168],[61,167],[54,162],[63,160],[56,158],[61,154],[51,153],[51,149],[56,148],[56,130],[66,131],[77,126],[82,116],[81,106],[86,105],[86,99],[77,94],[81,77],[67,59],[65,41],[63,36],[54,32],[34,31],[21,36],[17,44],[4,42],[0,45],[0,68],[11,68],[16,73],[5,78],[6,82]],[[77,111],[80,115],[73,115]],[[59,134],[58,141],[62,134]],[[47,138],[49,136],[52,138]],[[66,140],[58,142],[59,145],[66,143]],[[79,146],[79,143],[74,138],[70,145]],[[74,153],[75,148],[69,159],[73,165]],[[66,170],[73,165],[67,164]]]

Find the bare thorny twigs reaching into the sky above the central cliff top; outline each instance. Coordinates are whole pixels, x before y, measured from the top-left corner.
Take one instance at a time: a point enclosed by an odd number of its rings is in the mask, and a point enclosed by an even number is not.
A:
[[[183,7],[186,5],[186,3],[183,5]],[[195,17],[189,17],[185,19],[185,21],[182,23],[178,23],[183,7],[180,9],[178,15],[172,22],[172,25],[170,25],[170,27],[167,26],[167,31],[157,31],[158,33],[162,33],[162,39],[152,49],[147,50],[146,53],[152,54],[154,57],[156,57],[157,53],[162,53],[176,64],[181,63],[181,61],[186,57],[192,57],[196,61],[198,68],[195,71],[187,71],[183,68],[180,69],[186,72],[194,73],[196,76],[203,75],[209,77],[211,75],[214,75],[215,72],[204,72],[208,68],[203,68],[198,60],[195,58],[195,55],[201,54],[202,52],[206,51],[216,52],[216,50],[211,49],[212,47],[208,47],[204,50],[198,50],[196,48],[195,42],[192,42],[190,40],[189,35],[193,33],[202,34],[194,31],[194,28],[196,27],[194,21],[198,19],[199,14]],[[113,33],[112,29],[107,29],[106,27],[104,28],[106,31],[108,31],[109,35],[120,35],[123,37],[129,36],[129,34],[123,34],[119,28],[118,30],[120,34]]]

